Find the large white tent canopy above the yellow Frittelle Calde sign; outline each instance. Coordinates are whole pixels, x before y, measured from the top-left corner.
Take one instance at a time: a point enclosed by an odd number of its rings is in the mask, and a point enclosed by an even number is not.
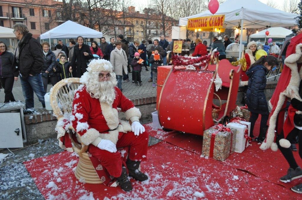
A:
[[[291,27],[296,24],[297,14],[287,13],[258,0],[227,0],[219,5],[215,15],[225,14],[224,28],[238,27],[243,20],[244,28]],[[187,26],[188,19],[213,15],[210,11],[179,18],[179,26]]]

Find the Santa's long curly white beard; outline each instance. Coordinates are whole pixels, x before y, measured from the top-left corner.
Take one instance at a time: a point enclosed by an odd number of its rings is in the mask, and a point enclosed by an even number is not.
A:
[[[110,80],[101,82],[90,80],[87,84],[87,90],[92,98],[97,98],[102,103],[112,104],[115,99],[114,86],[116,84],[115,76],[112,76]]]

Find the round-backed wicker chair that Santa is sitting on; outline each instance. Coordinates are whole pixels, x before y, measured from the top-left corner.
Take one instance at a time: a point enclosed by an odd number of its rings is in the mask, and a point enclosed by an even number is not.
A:
[[[79,78],[67,78],[59,81],[53,86],[53,89],[50,92],[50,104],[53,108],[53,113],[57,116],[58,120],[64,117],[64,115],[72,113],[74,91],[79,87],[80,84]],[[72,126],[69,127],[69,130],[75,132]],[[79,163],[75,171],[76,178],[78,180],[80,180],[80,178],[84,178],[85,183],[103,183],[98,177],[98,174],[96,173],[95,168],[88,157],[88,146],[84,145],[83,143],[80,145],[76,143],[72,137],[70,138],[73,143],[73,151],[79,155]]]

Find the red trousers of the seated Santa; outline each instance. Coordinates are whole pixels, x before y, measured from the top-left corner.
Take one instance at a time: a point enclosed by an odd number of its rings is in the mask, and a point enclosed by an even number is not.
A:
[[[146,161],[149,133],[145,131],[139,136],[133,132],[119,133],[116,148],[129,146],[128,159],[132,161]],[[92,156],[101,161],[101,165],[114,177],[120,177],[122,173],[122,157],[120,152],[111,153],[90,144],[88,151]]]

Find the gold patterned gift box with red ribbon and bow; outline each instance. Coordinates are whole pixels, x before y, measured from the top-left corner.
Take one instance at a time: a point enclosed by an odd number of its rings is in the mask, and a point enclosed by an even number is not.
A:
[[[234,149],[233,131],[223,125],[215,125],[204,131],[202,143],[202,155],[209,156],[219,161],[224,161],[229,157]]]

